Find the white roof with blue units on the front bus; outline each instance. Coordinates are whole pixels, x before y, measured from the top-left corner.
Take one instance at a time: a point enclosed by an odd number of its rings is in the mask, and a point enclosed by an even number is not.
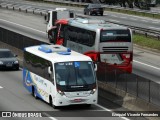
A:
[[[26,47],[25,51],[51,61],[52,63],[68,61],[92,61],[90,57],[60,45],[31,46]]]

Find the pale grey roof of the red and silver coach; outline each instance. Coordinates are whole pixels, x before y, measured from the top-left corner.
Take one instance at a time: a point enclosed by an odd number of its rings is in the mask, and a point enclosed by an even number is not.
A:
[[[84,28],[92,31],[96,31],[97,29],[103,30],[126,30],[128,27],[120,26],[113,23],[105,22],[104,20],[95,20],[90,18],[74,18],[69,19],[68,24],[71,26]]]

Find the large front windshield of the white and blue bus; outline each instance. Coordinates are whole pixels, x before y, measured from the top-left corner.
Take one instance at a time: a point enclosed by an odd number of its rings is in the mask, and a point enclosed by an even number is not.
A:
[[[93,71],[90,61],[55,63],[56,83],[65,89],[86,88],[96,82]]]

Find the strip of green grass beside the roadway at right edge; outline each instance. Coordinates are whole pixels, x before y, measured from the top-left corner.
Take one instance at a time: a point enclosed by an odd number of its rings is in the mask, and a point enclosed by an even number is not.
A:
[[[142,47],[160,50],[160,39],[158,40],[157,38],[134,34],[133,43]]]

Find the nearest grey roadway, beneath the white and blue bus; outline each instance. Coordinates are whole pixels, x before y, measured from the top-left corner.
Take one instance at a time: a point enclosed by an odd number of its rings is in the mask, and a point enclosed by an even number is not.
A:
[[[19,112],[40,111],[46,116],[50,117],[50,118],[45,118],[45,120],[68,120],[68,119],[74,119],[74,118],[76,118],[77,120],[82,120],[82,119],[83,120],[97,120],[97,119],[129,120],[128,118],[125,118],[125,117],[124,118],[111,117],[111,113],[113,113],[112,109],[104,108],[98,104],[92,105],[91,108],[87,108],[85,106],[80,105],[80,106],[59,107],[58,109],[53,109],[44,101],[35,99],[23,87],[21,70],[0,71],[0,76],[1,76],[0,77],[0,95],[1,95],[0,111],[19,111]],[[105,114],[101,114],[101,112],[105,112]],[[62,116],[62,115],[66,115],[66,116]],[[104,116],[100,117],[100,115],[104,115]],[[110,117],[106,118],[107,115],[110,115]],[[85,117],[85,116],[88,116],[88,117]],[[69,117],[74,117],[74,118],[69,118]],[[24,118],[24,119],[26,120],[27,118]],[[5,120],[5,119],[2,118],[1,120]],[[29,118],[29,120],[32,120],[32,118]],[[145,118],[141,118],[141,120],[145,120]]]

